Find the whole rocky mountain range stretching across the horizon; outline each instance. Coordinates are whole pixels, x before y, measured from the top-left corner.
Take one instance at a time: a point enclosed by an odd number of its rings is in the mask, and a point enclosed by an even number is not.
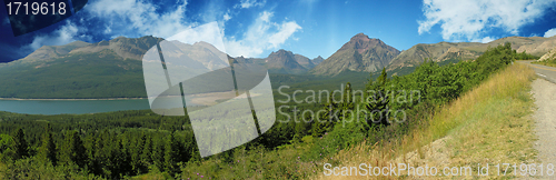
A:
[[[0,63],[1,98],[140,98],[145,97],[142,56],[163,39],[118,37],[88,43],[44,46],[26,58]],[[170,41],[176,50],[166,53],[191,59],[191,70],[210,71],[226,66],[214,61],[216,49],[209,43],[186,44]],[[556,37],[507,37],[488,43],[419,43],[399,51],[380,39],[364,33],[354,36],[334,54],[309,59],[280,49],[266,58],[236,57],[237,61],[265,66],[271,74],[338,76],[342,72],[377,72],[403,76],[430,59],[439,63],[471,60],[488,47],[510,42],[517,52],[543,56],[556,47]],[[195,56],[195,57],[190,57]]]

